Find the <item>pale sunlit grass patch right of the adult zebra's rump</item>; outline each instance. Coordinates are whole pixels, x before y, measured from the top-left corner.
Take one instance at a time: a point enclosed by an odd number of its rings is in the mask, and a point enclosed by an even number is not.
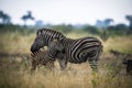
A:
[[[110,50],[119,51],[127,54],[132,54],[132,36],[110,37],[103,43],[105,52]]]

